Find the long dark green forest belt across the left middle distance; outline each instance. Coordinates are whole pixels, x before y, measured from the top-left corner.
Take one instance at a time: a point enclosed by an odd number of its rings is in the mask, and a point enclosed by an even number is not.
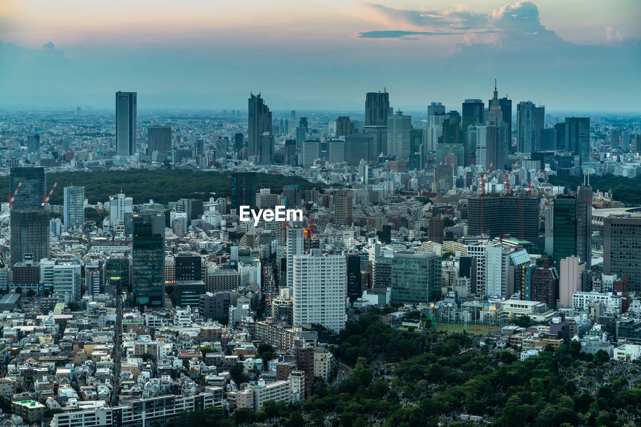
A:
[[[85,198],[92,205],[107,201],[109,196],[124,192],[133,197],[134,204],[147,203],[153,199],[156,203],[167,205],[170,201],[181,198],[204,199],[210,197],[227,197],[231,195],[231,172],[192,171],[190,169],[167,169],[162,171],[147,171],[146,169],[130,169],[128,171],[102,172],[51,172],[47,173],[47,192],[56,182],[58,188],[51,196],[51,205],[62,205],[63,187],[71,185],[84,186]],[[272,192],[280,194],[283,185],[297,184],[303,190],[314,188],[315,185],[297,176],[276,174],[256,174],[256,189],[271,188]],[[13,192],[9,189],[9,177],[0,176],[0,194]]]

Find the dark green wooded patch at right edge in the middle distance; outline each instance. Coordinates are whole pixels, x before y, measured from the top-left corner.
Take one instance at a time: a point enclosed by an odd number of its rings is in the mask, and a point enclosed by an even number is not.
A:
[[[548,180],[552,185],[563,185],[573,190],[576,190],[579,185],[583,185],[583,175],[550,176]],[[590,175],[590,187],[595,191],[612,190],[613,198],[626,206],[641,206],[641,175],[635,178],[626,178],[613,174]]]

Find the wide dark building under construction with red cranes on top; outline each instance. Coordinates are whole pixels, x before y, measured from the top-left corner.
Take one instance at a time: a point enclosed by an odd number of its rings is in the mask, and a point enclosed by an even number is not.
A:
[[[501,234],[538,247],[538,196],[486,194],[467,199],[467,235]]]

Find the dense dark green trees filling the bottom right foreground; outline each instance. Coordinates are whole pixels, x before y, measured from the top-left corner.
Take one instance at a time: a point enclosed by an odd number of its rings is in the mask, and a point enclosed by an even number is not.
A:
[[[641,420],[641,381],[628,381],[638,378],[638,366],[607,355],[579,356],[578,342],[520,362],[517,353],[490,352],[471,335],[392,331],[379,314],[362,315],[340,333],[334,353],[354,368],[337,387],[315,389],[302,406],[270,401],[258,413],[232,415],[197,410],[174,426],[435,427],[439,417],[449,426],[474,425],[457,421],[458,414],[483,416],[497,427],[614,427]]]

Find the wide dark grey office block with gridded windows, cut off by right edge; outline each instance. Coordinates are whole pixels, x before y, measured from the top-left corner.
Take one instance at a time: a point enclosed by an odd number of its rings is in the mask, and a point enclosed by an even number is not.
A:
[[[628,276],[628,290],[641,292],[641,215],[603,219],[603,272]]]

